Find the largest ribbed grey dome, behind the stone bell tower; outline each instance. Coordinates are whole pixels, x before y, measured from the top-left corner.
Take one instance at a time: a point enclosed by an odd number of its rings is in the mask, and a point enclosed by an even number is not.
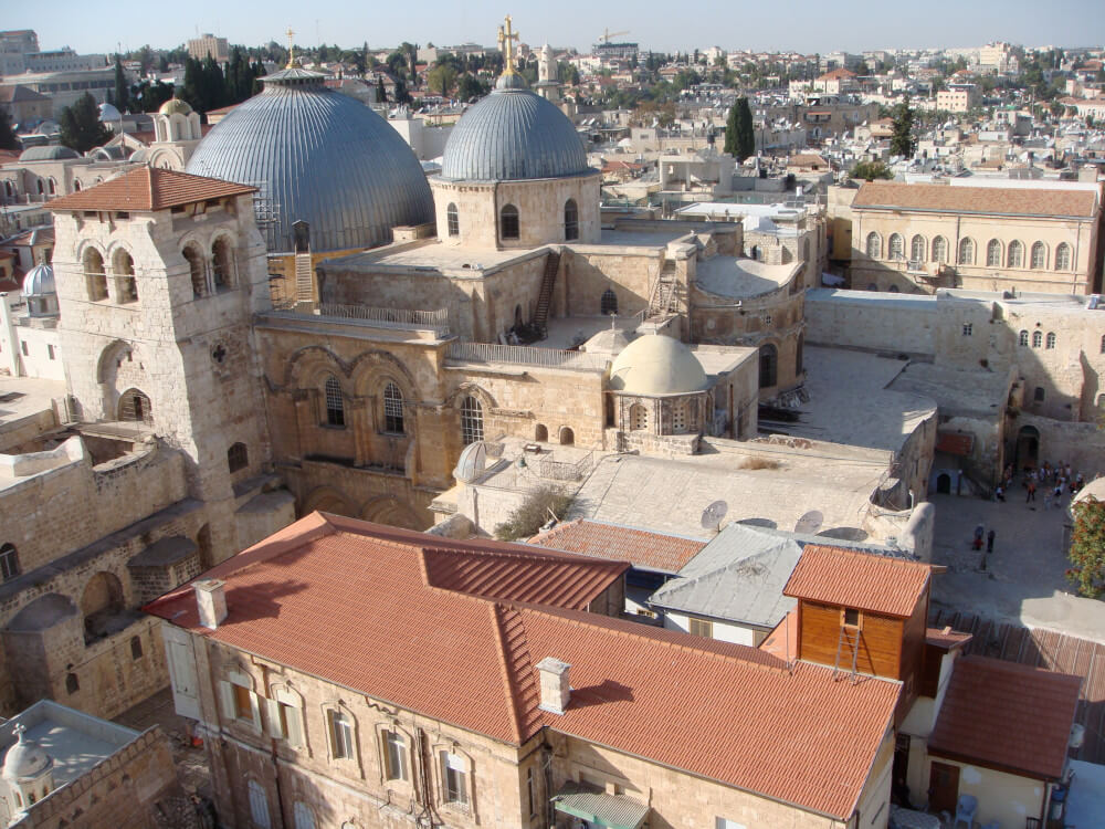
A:
[[[370,248],[398,224],[433,221],[433,196],[407,143],[369,107],[288,69],[234,107],[197,145],[187,171],[259,188],[269,250],[294,248],[311,225],[313,251]]]

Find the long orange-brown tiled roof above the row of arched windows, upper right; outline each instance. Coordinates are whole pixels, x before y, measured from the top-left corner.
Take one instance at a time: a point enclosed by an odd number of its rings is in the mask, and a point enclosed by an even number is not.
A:
[[[1090,219],[1097,213],[1097,196],[1092,190],[867,181],[856,193],[852,208]]]

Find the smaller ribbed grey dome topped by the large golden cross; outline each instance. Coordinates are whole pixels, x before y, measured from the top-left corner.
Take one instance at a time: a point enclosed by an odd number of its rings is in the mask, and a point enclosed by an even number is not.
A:
[[[441,177],[508,181],[579,176],[592,170],[576,127],[552,104],[499,78],[496,88],[456,123],[445,143]]]

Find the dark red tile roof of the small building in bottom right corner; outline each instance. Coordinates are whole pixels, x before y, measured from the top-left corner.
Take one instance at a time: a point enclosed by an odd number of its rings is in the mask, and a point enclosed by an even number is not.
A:
[[[928,738],[928,753],[1057,779],[1081,688],[1081,676],[987,657],[960,657]]]

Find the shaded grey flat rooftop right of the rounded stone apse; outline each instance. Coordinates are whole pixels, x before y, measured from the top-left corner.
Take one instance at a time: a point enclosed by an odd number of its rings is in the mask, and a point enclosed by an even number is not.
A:
[[[896,453],[936,413],[937,401],[922,387],[895,385],[904,360],[814,346],[802,359],[810,399],[794,410],[798,422],[772,421],[772,431]]]

